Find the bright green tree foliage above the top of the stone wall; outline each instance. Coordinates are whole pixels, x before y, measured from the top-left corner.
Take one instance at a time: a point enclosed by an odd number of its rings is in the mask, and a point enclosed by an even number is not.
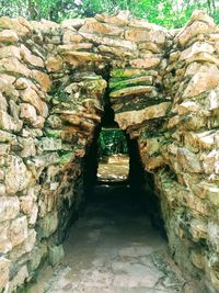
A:
[[[181,27],[195,9],[207,11],[219,23],[217,0],[0,0],[0,15],[59,22],[129,10],[135,16],[166,27]]]

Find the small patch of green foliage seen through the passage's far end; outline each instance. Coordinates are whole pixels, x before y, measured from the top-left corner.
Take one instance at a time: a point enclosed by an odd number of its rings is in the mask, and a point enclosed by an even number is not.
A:
[[[97,145],[100,158],[113,154],[128,154],[127,140],[120,129],[102,128]]]

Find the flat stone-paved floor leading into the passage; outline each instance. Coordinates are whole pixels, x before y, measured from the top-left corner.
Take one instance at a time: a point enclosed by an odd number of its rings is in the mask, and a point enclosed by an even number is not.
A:
[[[194,292],[127,188],[95,189],[65,252],[62,264],[48,268],[28,293]]]

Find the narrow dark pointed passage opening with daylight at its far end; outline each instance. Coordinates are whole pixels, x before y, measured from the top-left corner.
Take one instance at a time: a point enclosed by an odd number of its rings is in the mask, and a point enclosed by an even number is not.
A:
[[[128,201],[131,209],[136,206],[145,213],[152,226],[165,237],[160,199],[155,193],[153,176],[142,166],[138,140],[130,139],[115,122],[108,89],[104,103],[104,115],[85,157],[85,202],[89,205],[94,202],[99,204],[100,200],[105,204],[113,201],[118,211],[116,204],[123,209],[120,203]]]

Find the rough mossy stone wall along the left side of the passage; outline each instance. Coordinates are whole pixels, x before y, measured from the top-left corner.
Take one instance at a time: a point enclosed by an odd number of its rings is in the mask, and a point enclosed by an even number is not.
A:
[[[0,292],[62,252],[106,87],[93,72],[57,70],[49,52],[60,27],[36,25],[0,19]]]

